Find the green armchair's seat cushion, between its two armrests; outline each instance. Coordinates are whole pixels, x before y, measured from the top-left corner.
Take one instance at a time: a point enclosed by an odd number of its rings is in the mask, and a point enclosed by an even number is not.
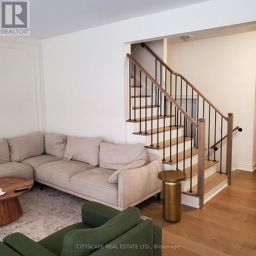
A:
[[[86,223],[76,223],[73,225],[70,225],[68,227],[62,228],[55,233],[51,234],[50,236],[40,240],[38,243],[45,248],[47,248],[49,251],[53,252],[57,256],[60,256],[62,246],[63,246],[63,238],[67,232],[74,229],[87,229],[92,228],[92,226],[86,224]]]

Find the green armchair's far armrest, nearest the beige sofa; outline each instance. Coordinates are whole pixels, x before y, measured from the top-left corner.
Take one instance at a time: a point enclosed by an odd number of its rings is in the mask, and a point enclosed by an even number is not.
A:
[[[82,222],[93,227],[99,227],[120,214],[120,211],[109,206],[87,202],[82,205]]]

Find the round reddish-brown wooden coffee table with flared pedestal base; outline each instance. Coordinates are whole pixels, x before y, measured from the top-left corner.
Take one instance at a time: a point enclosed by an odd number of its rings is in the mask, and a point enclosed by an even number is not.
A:
[[[21,187],[31,187],[34,181],[32,179],[22,177],[4,177],[0,178],[0,188],[7,192],[4,196],[0,196],[0,226],[17,220],[22,215],[22,206],[19,203],[18,196],[27,190],[14,193],[14,189]]]

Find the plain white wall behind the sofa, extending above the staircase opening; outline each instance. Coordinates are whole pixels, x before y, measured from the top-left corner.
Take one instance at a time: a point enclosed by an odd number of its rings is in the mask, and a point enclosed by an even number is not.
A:
[[[43,40],[45,131],[125,142],[124,42],[251,22],[255,8],[213,0]]]

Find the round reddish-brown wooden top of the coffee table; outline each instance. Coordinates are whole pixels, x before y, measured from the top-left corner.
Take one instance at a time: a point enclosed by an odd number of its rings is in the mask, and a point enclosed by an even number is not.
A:
[[[29,189],[33,186],[34,180],[27,179],[23,177],[3,177],[0,178],[0,188],[2,187],[3,192],[7,192],[5,195],[0,196],[0,201],[7,200],[10,198],[17,197],[22,195],[27,190],[23,190],[17,193],[14,193],[14,189],[29,187]]]

